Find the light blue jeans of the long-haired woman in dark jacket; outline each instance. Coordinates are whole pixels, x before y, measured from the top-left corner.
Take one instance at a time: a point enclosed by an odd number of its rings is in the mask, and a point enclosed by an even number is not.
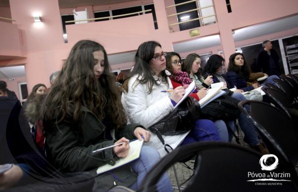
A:
[[[151,170],[155,163],[160,159],[158,151],[150,146],[143,145],[140,158],[131,163],[132,169],[138,174],[137,182],[129,188],[137,191],[145,179],[147,173]],[[158,192],[172,192],[172,184],[167,175],[164,173],[156,185]]]

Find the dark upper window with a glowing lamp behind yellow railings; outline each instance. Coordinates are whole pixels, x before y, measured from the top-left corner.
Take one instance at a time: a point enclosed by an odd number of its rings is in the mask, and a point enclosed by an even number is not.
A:
[[[178,4],[181,2],[186,2],[186,1],[189,1],[189,0],[175,0],[175,4]],[[176,12],[180,13],[180,12],[188,11],[188,10],[195,9],[195,8],[197,8],[196,2],[190,2],[190,3],[176,6]],[[192,12],[180,14],[177,16],[178,16],[178,22],[199,18],[198,11],[196,11],[196,10],[192,11]],[[192,29],[192,28],[196,28],[196,27],[200,27],[200,26],[201,26],[200,20],[195,20],[195,21],[190,21],[190,22],[179,24],[180,31]]]

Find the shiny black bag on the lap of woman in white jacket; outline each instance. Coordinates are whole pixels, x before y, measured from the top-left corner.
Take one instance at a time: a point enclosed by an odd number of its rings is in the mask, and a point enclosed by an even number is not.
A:
[[[149,130],[152,133],[158,130],[161,135],[165,136],[179,135],[194,127],[196,120],[200,118],[200,113],[199,102],[195,98],[187,97],[168,115],[150,126]]]

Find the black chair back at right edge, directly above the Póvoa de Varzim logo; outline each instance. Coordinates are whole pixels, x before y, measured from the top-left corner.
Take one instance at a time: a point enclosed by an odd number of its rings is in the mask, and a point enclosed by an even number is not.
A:
[[[250,104],[249,113],[243,108],[245,104]],[[269,152],[278,156],[279,163],[290,171],[292,181],[298,185],[295,170],[298,162],[298,132],[288,115],[275,106],[253,100],[243,100],[238,107],[254,123]]]

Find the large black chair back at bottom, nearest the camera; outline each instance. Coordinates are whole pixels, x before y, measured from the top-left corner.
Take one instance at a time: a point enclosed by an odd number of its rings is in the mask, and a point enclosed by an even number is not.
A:
[[[263,192],[296,191],[293,182],[283,186],[256,186],[248,182],[248,173],[263,173],[259,165],[260,153],[237,144],[198,142],[176,148],[162,158],[148,173],[140,192],[152,192],[158,178],[175,162],[197,154],[196,170],[184,192]],[[267,174],[269,174],[267,172]],[[258,179],[258,178],[254,178]]]

